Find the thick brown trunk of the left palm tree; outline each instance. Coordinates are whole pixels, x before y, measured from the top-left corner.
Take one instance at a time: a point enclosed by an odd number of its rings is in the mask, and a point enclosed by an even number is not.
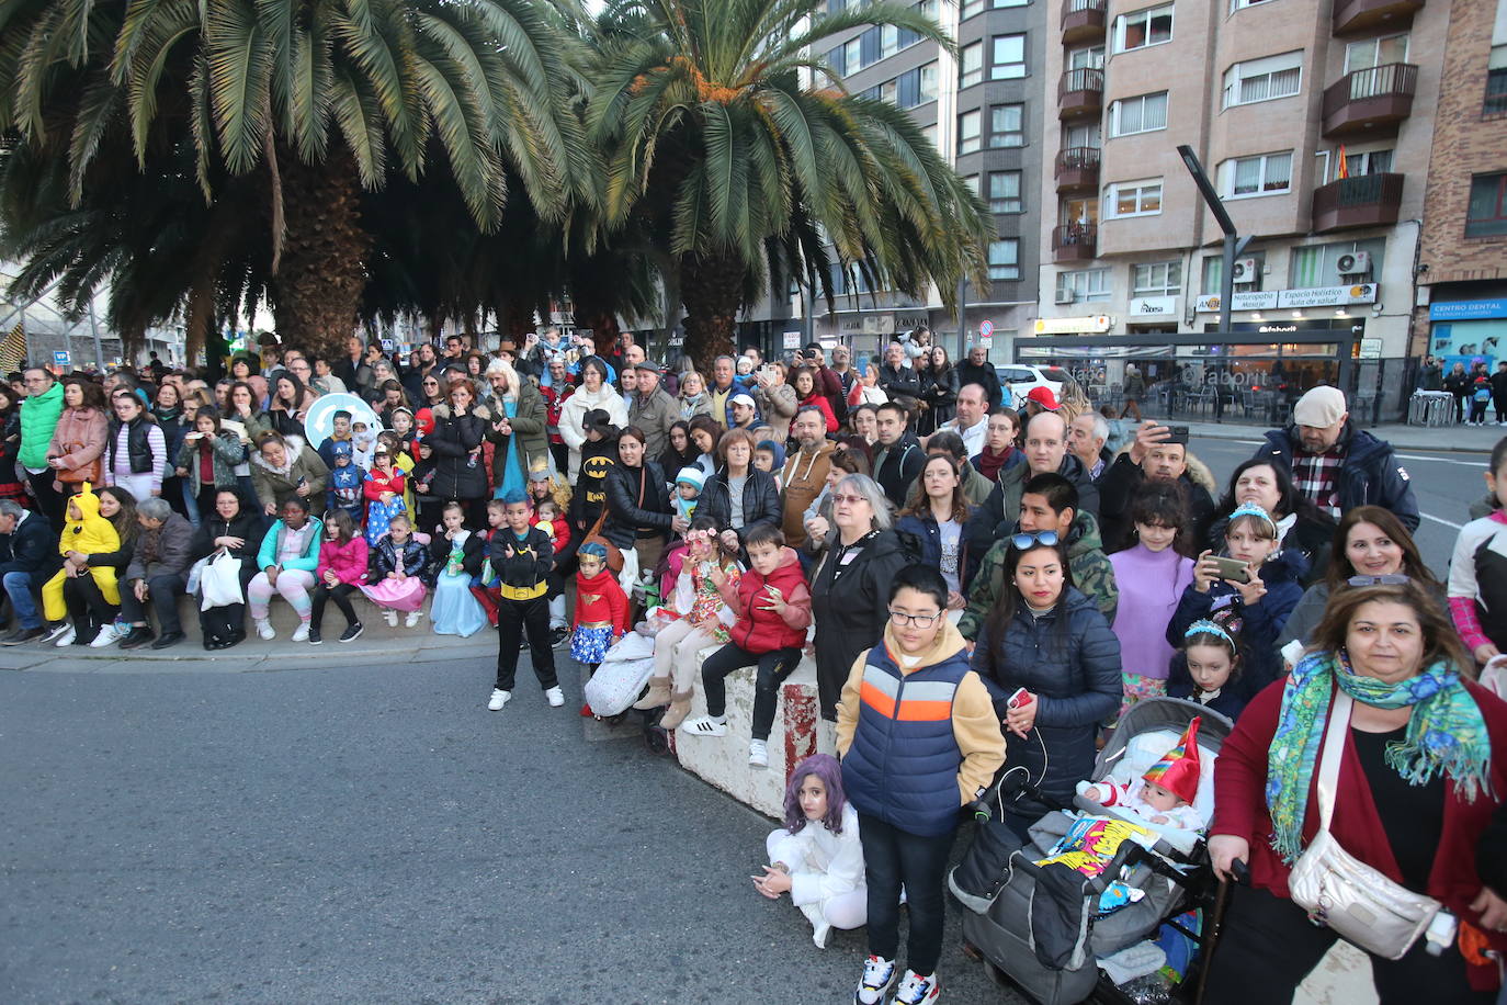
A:
[[[277,161],[288,221],[273,283],[277,338],[336,357],[356,330],[371,249],[360,223],[356,163],[344,146],[333,146],[324,163],[304,164],[282,145]]]

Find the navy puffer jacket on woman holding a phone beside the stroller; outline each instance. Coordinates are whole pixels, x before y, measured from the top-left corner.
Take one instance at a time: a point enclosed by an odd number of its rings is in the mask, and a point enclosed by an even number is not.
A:
[[[1070,806],[1081,779],[1093,777],[1100,723],[1120,708],[1120,639],[1099,607],[1071,586],[1056,607],[1034,616],[1022,606],[1002,640],[980,630],[974,669],[984,680],[995,711],[1008,711],[1010,696],[1025,687],[1037,698],[1037,716],[1028,740],[1011,737],[1005,767],[1020,767],[1044,797],[1044,805],[1022,796],[1020,808],[1046,812]],[[1040,740],[1040,743],[1038,743]]]

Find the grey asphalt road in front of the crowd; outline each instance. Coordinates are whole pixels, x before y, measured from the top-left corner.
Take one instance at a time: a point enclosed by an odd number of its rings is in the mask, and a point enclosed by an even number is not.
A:
[[[749,886],[772,821],[573,678],[485,711],[493,660],[0,672],[0,1000],[850,1000],[862,933]],[[1019,1000],[957,910],[949,997]]]

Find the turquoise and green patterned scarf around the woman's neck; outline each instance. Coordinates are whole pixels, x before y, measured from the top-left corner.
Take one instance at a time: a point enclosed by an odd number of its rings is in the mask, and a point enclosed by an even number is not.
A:
[[[1302,851],[1304,812],[1323,747],[1334,683],[1367,705],[1412,707],[1406,738],[1386,744],[1386,764],[1411,785],[1426,785],[1442,770],[1466,802],[1489,791],[1490,737],[1457,671],[1441,661],[1406,681],[1386,684],[1353,672],[1343,651],[1338,655],[1313,652],[1287,678],[1267,755],[1272,848],[1284,862],[1290,865]]]

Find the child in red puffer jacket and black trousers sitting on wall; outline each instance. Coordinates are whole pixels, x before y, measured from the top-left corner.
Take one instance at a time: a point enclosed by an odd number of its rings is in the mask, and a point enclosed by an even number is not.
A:
[[[811,625],[811,589],[800,559],[785,547],[785,535],[778,526],[757,524],[743,544],[752,568],[737,583],[728,582],[720,570],[711,574],[737,621],[728,630],[729,642],[701,664],[707,714],[681,723],[680,729],[690,737],[726,734],[723,678],[732,671],[758,666],[749,764],[769,767],[769,734],[779,705],[779,686],[800,663]]]

